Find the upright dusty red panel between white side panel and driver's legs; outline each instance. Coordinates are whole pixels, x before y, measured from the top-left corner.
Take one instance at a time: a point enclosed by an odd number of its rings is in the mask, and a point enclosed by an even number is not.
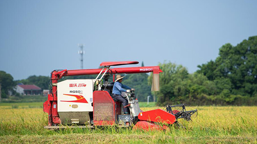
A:
[[[115,124],[115,103],[107,91],[93,92],[93,120],[95,126]]]

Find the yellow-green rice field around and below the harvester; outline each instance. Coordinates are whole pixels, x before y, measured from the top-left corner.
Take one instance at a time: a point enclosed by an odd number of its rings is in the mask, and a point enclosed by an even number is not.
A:
[[[114,127],[47,130],[42,105],[0,103],[0,144],[257,144],[257,107],[197,107],[193,122],[180,120],[186,128],[141,131]]]

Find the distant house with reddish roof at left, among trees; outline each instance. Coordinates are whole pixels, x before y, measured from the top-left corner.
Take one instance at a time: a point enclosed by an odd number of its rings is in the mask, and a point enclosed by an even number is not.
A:
[[[36,94],[42,93],[41,88],[36,85],[23,85],[23,84],[18,84],[16,86],[15,91],[20,93],[21,95],[36,95]]]

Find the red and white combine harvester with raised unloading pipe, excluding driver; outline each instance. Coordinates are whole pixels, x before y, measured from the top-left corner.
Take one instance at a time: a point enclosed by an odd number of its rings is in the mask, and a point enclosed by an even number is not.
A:
[[[133,129],[166,129],[177,123],[177,119],[191,120],[196,109],[186,111],[184,104],[166,106],[166,110],[154,109],[142,111],[134,91],[127,91],[130,114],[124,114],[121,102],[111,97],[114,77],[117,73],[153,72],[152,90],[159,90],[159,66],[110,68],[137,61],[102,62],[103,69],[55,70],[51,72],[51,92],[43,104],[43,111],[48,113],[48,129],[58,129],[64,125],[70,127],[95,126],[133,126]],[[95,79],[68,79],[58,82],[64,76],[98,74]],[[101,76],[102,75],[102,76]],[[101,77],[100,77],[101,76]],[[113,82],[108,82],[113,76]],[[100,78],[99,78],[100,77]],[[104,79],[105,81],[103,82]],[[174,108],[179,108],[175,109]],[[76,124],[74,126],[74,124]]]

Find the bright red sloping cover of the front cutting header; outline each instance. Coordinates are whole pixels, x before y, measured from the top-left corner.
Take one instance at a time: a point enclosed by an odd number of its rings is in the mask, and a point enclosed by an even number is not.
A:
[[[173,124],[176,121],[176,117],[173,114],[162,109],[140,112],[138,119],[141,121],[158,122],[162,124]]]

